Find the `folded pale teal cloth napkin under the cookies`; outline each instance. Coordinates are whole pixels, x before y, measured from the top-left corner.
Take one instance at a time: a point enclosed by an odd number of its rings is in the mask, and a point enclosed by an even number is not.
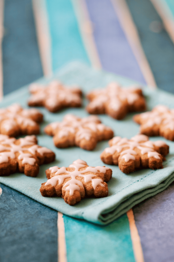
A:
[[[82,87],[84,93],[104,87],[111,81],[117,81],[122,85],[137,84],[130,79],[126,79],[104,71],[91,69],[80,62],[73,62],[56,72],[50,79],[59,79],[65,84],[77,84]],[[47,83],[50,79],[42,78],[38,82]],[[174,95],[161,91],[153,90],[148,87],[143,88],[146,96],[148,110],[157,104],[167,105],[170,108],[174,105]],[[6,107],[12,103],[20,103],[27,107],[27,99],[30,96],[28,87],[25,86],[9,95],[5,96],[0,103],[1,107]],[[87,101],[84,99],[84,105]],[[85,151],[78,147],[58,149],[54,146],[52,137],[44,134],[43,129],[46,124],[53,121],[61,121],[67,113],[73,113],[80,117],[87,116],[83,108],[69,108],[59,113],[50,113],[44,108],[39,108],[44,114],[44,123],[41,124],[41,134],[38,135],[39,145],[46,146],[56,153],[56,160],[53,163],[40,166],[39,175],[35,178],[26,177],[24,174],[13,174],[9,177],[0,177],[0,182],[21,193],[35,199],[36,201],[58,210],[68,216],[79,219],[86,219],[97,224],[108,224],[117,217],[121,216],[135,204],[144,199],[154,196],[163,191],[174,180],[174,142],[162,137],[150,138],[151,141],[163,140],[170,146],[170,154],[163,163],[164,168],[159,170],[143,169],[131,174],[122,173],[118,166],[109,166],[113,170],[113,176],[108,182],[109,194],[104,198],[82,199],[74,206],[69,206],[60,197],[42,197],[39,191],[41,183],[47,181],[45,170],[50,166],[68,167],[74,160],[80,158],[87,162],[89,166],[103,166],[100,154],[108,146],[108,141],[99,142],[93,151]],[[132,121],[134,114],[128,114],[123,120],[115,120],[107,115],[100,115],[101,121],[110,126],[115,135],[131,138],[139,132],[139,125]]]

